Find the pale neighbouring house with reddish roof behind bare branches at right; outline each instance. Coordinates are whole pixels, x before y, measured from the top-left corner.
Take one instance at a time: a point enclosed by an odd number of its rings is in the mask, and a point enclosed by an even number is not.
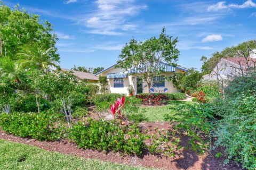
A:
[[[221,58],[210,74],[203,75],[204,80],[227,80],[243,75],[250,67],[255,67],[256,58],[230,57]]]

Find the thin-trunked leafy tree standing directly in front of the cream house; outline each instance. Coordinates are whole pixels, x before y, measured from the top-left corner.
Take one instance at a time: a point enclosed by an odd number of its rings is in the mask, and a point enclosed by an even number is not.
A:
[[[126,70],[135,67],[137,72],[134,74],[147,83],[150,94],[153,77],[164,72],[159,62],[175,65],[178,60],[180,52],[176,48],[177,43],[178,38],[166,35],[165,28],[158,38],[152,37],[143,42],[131,39],[119,55],[118,67]]]

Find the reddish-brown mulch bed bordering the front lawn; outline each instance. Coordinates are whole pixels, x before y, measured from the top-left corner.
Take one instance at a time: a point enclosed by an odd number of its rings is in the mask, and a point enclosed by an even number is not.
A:
[[[169,123],[140,123],[142,129],[148,129],[149,133],[153,132],[155,128],[158,129],[172,129]],[[164,155],[151,155],[144,153],[142,156],[123,155],[118,152],[103,152],[91,149],[78,149],[75,143],[70,143],[68,140],[59,141],[37,141],[36,139],[15,137],[0,130],[0,139],[9,141],[25,143],[27,145],[36,146],[48,151],[56,151],[62,154],[75,155],[84,158],[100,159],[103,161],[121,163],[133,166],[144,166],[161,169],[207,169],[207,170],[238,170],[242,169],[234,163],[223,165],[223,159],[216,159],[210,154],[198,156],[194,151],[181,149],[174,158],[166,157]],[[181,145],[185,145],[186,138],[181,138]],[[215,153],[213,154],[215,155]]]

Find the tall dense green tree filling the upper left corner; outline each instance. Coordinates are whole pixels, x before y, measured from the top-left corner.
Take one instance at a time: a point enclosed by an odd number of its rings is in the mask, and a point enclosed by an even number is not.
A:
[[[2,38],[2,51],[12,60],[18,60],[15,55],[19,48],[27,43],[38,42],[44,49],[52,48],[50,52],[54,61],[59,60],[55,43],[57,35],[52,32],[52,24],[42,23],[38,15],[30,14],[19,5],[12,10],[0,2],[0,37]]]

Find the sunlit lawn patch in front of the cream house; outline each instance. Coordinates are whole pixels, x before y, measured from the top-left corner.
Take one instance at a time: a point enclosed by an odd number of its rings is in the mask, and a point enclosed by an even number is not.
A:
[[[193,101],[178,101],[178,100],[171,100],[169,101],[168,105],[165,106],[152,106],[152,107],[140,107],[139,112],[134,114],[135,116],[141,117],[141,121],[146,122],[164,122],[164,115],[170,114],[173,115],[175,118],[182,117],[174,110],[180,105],[187,105],[187,104],[194,104]]]

